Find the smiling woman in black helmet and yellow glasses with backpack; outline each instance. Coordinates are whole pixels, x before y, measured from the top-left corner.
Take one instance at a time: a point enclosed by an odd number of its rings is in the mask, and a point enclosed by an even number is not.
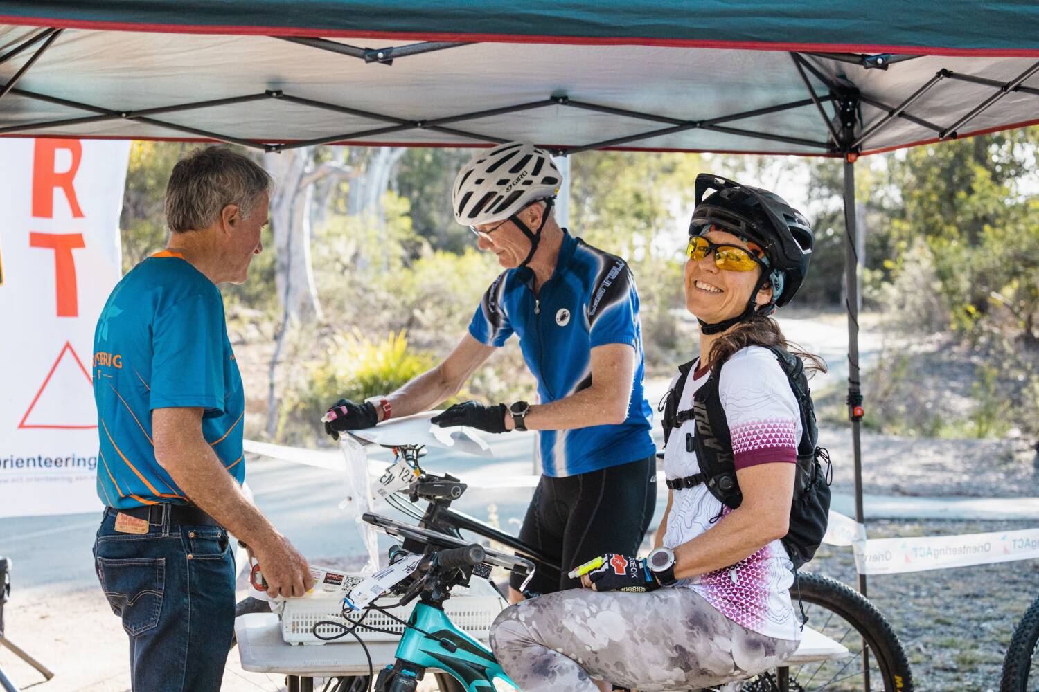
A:
[[[829,488],[798,356],[822,362],[789,351],[769,315],[804,279],[811,229],[778,195],[714,175],[697,177],[696,202],[685,290],[700,356],[665,399],[655,550],[607,553],[582,577],[590,591],[502,612],[495,653],[524,690],[716,686],[775,667],[801,638],[789,589],[825,533]]]

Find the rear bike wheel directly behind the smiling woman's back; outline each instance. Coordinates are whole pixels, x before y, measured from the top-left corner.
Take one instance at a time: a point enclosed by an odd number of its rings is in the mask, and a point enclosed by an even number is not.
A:
[[[847,585],[819,574],[799,573],[790,589],[795,601],[798,591],[808,614],[808,627],[842,642],[849,649],[854,648],[855,640],[862,642],[871,661],[868,668],[870,692],[912,692],[912,672],[905,651],[890,624],[876,606]],[[796,603],[794,607],[798,607]],[[863,649],[853,651],[850,657],[837,661],[790,666],[789,689],[798,692],[861,692],[867,680]],[[847,668],[852,665],[861,666],[863,672],[858,676],[854,672],[847,674]],[[822,679],[830,675],[830,680],[821,679],[816,683],[820,672],[823,673]],[[748,692],[772,692],[779,689],[776,679],[774,673],[762,673],[744,689]]]

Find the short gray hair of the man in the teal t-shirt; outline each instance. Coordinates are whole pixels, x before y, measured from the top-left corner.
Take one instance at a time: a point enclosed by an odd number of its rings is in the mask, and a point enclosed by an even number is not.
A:
[[[166,224],[175,233],[206,228],[228,204],[237,205],[242,218],[266,214],[256,207],[272,188],[270,174],[247,157],[223,146],[195,149],[169,175]]]

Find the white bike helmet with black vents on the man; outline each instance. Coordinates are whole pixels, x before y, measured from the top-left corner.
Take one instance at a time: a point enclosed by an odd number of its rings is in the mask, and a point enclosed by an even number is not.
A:
[[[481,151],[455,177],[455,220],[464,226],[503,221],[532,201],[554,197],[562,178],[549,153],[529,142]]]

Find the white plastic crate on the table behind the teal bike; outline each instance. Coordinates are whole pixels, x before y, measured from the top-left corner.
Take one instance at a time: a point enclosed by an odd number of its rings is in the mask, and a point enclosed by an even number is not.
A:
[[[489,584],[487,588],[477,586],[474,579],[475,588],[455,588],[451,598],[444,603],[444,612],[447,613],[455,627],[465,632],[474,639],[486,642],[490,634],[490,625],[498,617],[498,613],[505,608],[505,601],[494,592]],[[403,607],[388,608],[388,612],[396,617],[407,621],[415,609],[418,600],[412,601]],[[322,620],[342,622],[348,625],[355,622],[364,614],[364,611],[349,614],[347,618],[342,616],[342,601],[327,598],[290,599],[281,606],[282,638],[290,644],[325,644],[325,643],[356,643],[356,639],[350,635],[345,635],[339,639],[326,642],[314,636],[314,626]],[[358,627],[355,632],[365,641],[396,641],[404,634],[404,626],[391,619],[377,610],[368,612],[364,619],[364,625],[388,630],[389,632],[373,632]],[[329,637],[341,634],[340,628],[324,625],[318,628],[318,633]],[[394,634],[390,634],[393,632]]]

